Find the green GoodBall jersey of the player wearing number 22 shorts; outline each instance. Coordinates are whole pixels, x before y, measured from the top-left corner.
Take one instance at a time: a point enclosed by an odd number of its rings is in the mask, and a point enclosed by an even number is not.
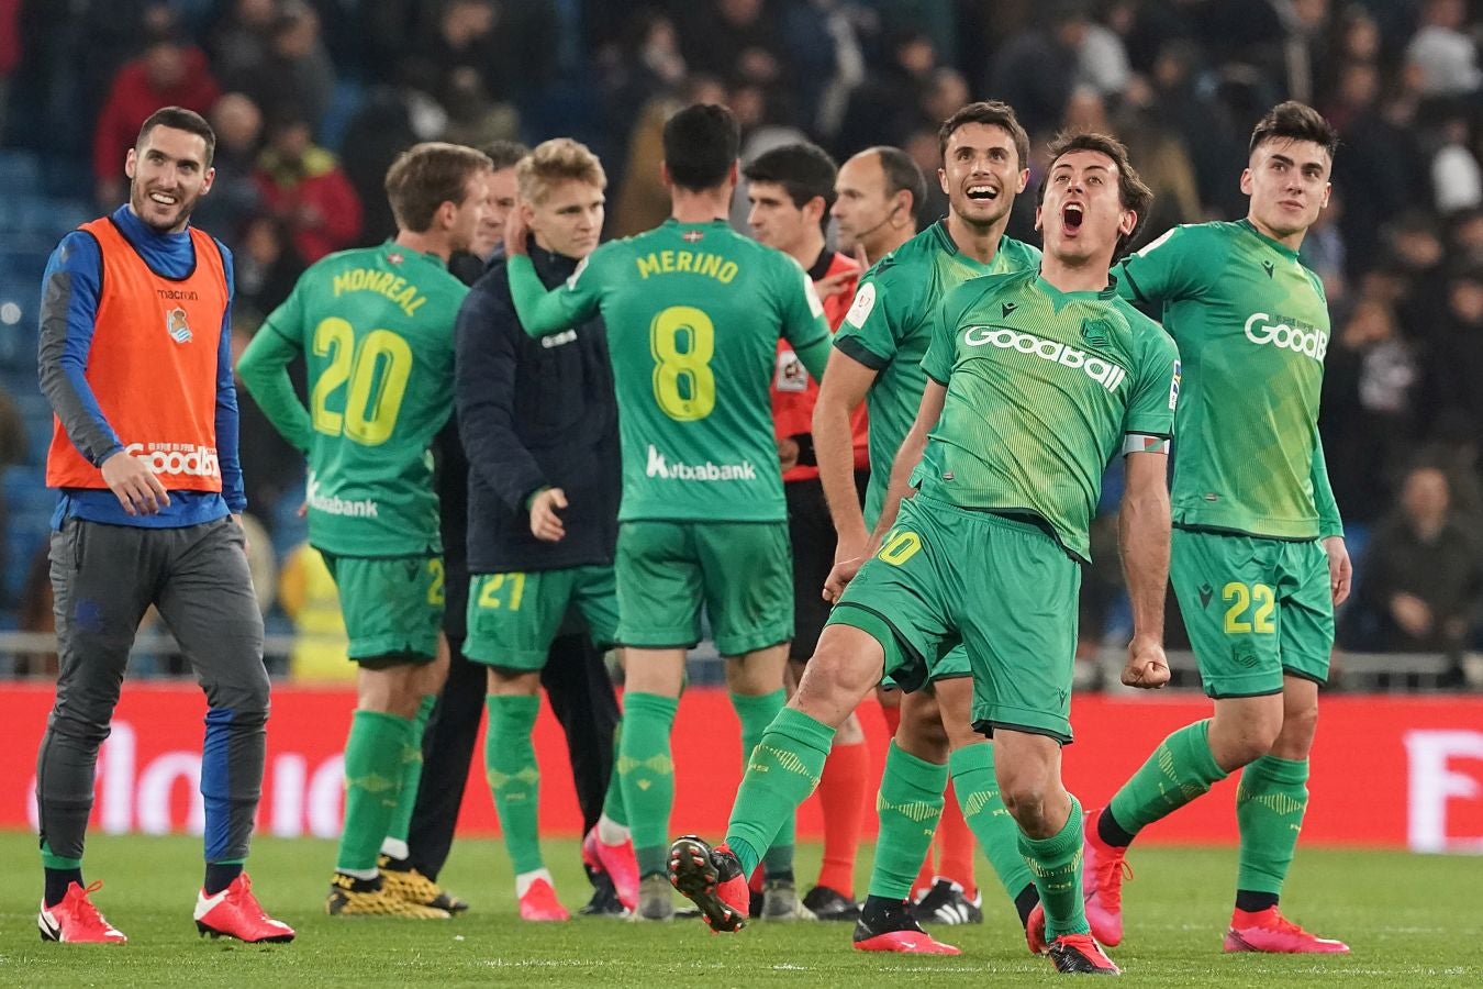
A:
[[[1269,538],[1342,534],[1318,439],[1323,282],[1249,221],[1175,227],[1114,268],[1183,354],[1176,525]]]

